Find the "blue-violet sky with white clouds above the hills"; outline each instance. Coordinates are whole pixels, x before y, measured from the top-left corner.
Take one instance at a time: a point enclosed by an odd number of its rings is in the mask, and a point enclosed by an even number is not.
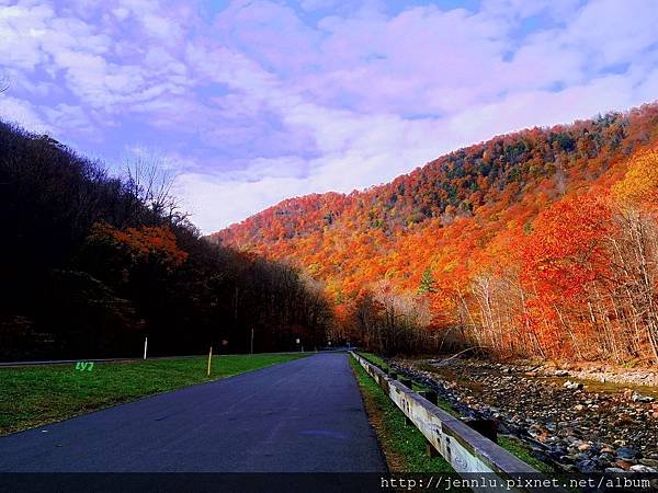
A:
[[[0,118],[175,174],[205,233],[658,99],[655,0],[0,0]]]

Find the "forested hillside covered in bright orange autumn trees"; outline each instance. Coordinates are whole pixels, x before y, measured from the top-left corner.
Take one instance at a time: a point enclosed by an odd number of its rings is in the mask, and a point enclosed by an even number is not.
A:
[[[657,146],[656,104],[532,128],[212,238],[297,262],[374,349],[656,363]]]

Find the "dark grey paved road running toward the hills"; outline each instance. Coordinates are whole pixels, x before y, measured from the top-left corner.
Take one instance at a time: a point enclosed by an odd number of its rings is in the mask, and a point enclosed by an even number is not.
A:
[[[384,472],[348,357],[318,354],[10,435],[0,471]]]

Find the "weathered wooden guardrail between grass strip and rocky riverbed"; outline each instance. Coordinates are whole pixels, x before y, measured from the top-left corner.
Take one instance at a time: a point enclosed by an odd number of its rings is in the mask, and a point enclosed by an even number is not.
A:
[[[523,488],[524,482],[518,481],[526,474],[541,477],[536,469],[484,437],[460,419],[452,416],[407,386],[389,377],[360,355],[354,352],[350,352],[350,354],[402,411],[408,422],[411,422],[424,435],[428,446],[441,454],[457,473],[494,474],[501,485],[500,491],[547,491],[545,488]],[[511,480],[517,481],[509,488]],[[489,488],[486,491],[497,490]],[[564,490],[554,489],[553,491]]]

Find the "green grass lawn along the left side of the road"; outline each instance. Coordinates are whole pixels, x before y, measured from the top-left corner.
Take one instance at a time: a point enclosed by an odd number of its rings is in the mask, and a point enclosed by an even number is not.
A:
[[[296,354],[97,363],[91,371],[76,365],[0,368],[0,436],[132,401],[145,395],[217,380],[297,359]]]

